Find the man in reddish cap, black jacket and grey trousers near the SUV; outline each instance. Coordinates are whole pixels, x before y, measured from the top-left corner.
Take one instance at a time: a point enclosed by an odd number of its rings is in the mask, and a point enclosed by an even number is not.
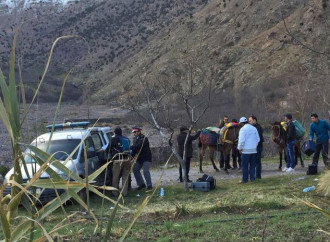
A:
[[[152,183],[150,176],[150,165],[152,161],[152,155],[149,146],[149,140],[141,133],[141,128],[139,127],[133,127],[132,133],[134,135],[134,139],[133,145],[131,146],[131,155],[136,159],[135,165],[133,167],[133,174],[138,185],[137,190],[141,190],[145,187],[147,190],[151,190]],[[145,182],[140,172],[142,168]]]

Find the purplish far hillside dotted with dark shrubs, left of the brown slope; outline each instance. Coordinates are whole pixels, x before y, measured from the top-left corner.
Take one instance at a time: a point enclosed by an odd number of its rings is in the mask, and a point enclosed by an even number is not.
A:
[[[45,66],[52,42],[61,35],[79,35],[63,40],[56,47],[50,73],[54,88],[73,68],[70,83],[73,92],[82,95],[84,87],[100,88],[103,72],[111,73],[131,56],[144,49],[163,28],[190,16],[207,1],[111,0],[77,1],[59,10],[49,3],[28,9],[14,9],[0,16],[1,67],[8,62],[13,33],[20,28],[17,55],[27,71],[26,83],[38,80]],[[58,88],[57,88],[58,89]],[[43,90],[45,101],[56,94]],[[72,93],[72,92],[70,92]],[[82,98],[80,98],[82,99]]]

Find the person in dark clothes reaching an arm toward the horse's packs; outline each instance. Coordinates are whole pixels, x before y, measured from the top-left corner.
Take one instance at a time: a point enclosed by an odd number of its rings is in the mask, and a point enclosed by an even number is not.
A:
[[[178,142],[178,149],[179,149],[179,155],[183,159],[183,152],[184,152],[184,143],[186,141],[187,137],[187,131],[188,128],[186,126],[182,126],[180,128],[180,134],[177,136],[177,142]],[[188,140],[187,140],[187,146],[186,146],[186,160],[185,162],[185,168],[186,168],[186,177],[187,177],[187,182],[191,182],[189,179],[189,170],[190,170],[190,160],[193,155],[193,148],[192,148],[192,141],[196,140],[199,135],[200,131],[198,131],[195,135],[189,135]],[[180,163],[179,163],[180,164]],[[180,164],[179,167],[179,180],[180,182],[183,182],[183,176],[182,176],[182,166]]]

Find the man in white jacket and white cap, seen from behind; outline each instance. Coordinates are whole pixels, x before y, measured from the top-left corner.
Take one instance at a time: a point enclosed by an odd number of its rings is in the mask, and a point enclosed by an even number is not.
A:
[[[240,183],[255,180],[255,166],[257,146],[260,141],[258,130],[248,123],[245,117],[240,118],[239,123],[243,126],[238,135],[237,149],[241,153],[241,168],[243,178]]]

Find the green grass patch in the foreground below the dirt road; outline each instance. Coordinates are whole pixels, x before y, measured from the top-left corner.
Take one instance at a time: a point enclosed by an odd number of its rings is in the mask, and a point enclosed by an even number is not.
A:
[[[311,201],[328,209],[329,197],[317,191],[302,192],[316,185],[319,176],[301,175],[263,178],[256,182],[237,184],[237,179],[218,182],[210,192],[184,192],[181,184],[165,186],[165,196],[153,197],[130,231],[127,241],[326,241],[329,220],[308,208],[300,199]],[[150,195],[146,190],[130,191],[123,201],[125,209],[117,213],[112,239],[119,239],[132,220],[139,204]],[[95,224],[88,215],[77,213],[72,221],[82,222],[67,226],[58,232],[59,239],[100,240],[113,204],[91,196],[91,209],[100,221]],[[68,214],[80,206],[65,206]],[[103,214],[103,216],[101,216]],[[23,214],[21,214],[23,215]],[[45,228],[51,228],[64,216],[60,210],[47,217]],[[36,233],[36,235],[40,235]],[[36,236],[36,237],[37,237]]]

